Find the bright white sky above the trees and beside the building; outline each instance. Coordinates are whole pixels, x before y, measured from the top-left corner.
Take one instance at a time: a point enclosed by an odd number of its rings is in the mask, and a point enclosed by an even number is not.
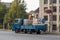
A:
[[[13,0],[1,0],[2,2],[12,2]],[[39,0],[25,0],[25,3],[27,4],[27,12],[30,12],[31,10],[36,10],[39,7]]]

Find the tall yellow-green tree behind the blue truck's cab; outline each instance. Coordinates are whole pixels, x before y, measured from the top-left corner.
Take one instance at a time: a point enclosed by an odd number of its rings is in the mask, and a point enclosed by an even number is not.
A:
[[[9,23],[15,18],[15,15],[17,13],[17,5],[17,0],[14,0],[9,7],[8,13],[6,13],[4,17],[4,23]]]

